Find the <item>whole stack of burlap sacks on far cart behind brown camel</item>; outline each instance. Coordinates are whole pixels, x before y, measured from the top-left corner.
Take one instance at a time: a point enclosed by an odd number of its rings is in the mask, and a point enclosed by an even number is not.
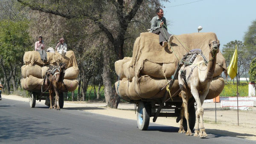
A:
[[[78,81],[76,78],[79,75],[79,69],[76,62],[76,57],[73,51],[68,51],[65,57],[61,56],[58,52],[47,52],[47,62],[41,60],[39,52],[29,51],[25,52],[23,56],[25,65],[21,67],[21,86],[26,90],[47,90],[48,86],[44,83],[44,76],[50,66],[57,66],[59,63],[65,63],[64,84],[61,87],[62,91],[73,92]],[[66,89],[67,88],[67,89]]]

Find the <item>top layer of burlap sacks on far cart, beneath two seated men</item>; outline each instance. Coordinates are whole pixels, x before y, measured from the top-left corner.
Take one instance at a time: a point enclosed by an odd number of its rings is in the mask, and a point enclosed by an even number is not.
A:
[[[43,62],[41,60],[41,57],[39,55],[39,52],[36,51],[29,51],[25,52],[23,56],[23,62],[25,65],[27,64],[38,64],[38,65],[55,65],[57,66],[59,63],[63,62],[66,64],[66,68],[69,68],[71,66],[78,68],[76,57],[73,51],[67,51],[65,57],[62,57],[60,53],[58,52],[47,52],[47,62]]]

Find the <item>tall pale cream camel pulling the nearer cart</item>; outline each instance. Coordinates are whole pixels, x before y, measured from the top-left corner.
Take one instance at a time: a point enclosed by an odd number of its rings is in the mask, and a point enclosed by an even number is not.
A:
[[[204,109],[202,108],[202,104],[209,92],[210,82],[212,81],[212,76],[215,70],[216,55],[219,52],[219,45],[218,40],[209,41],[210,52],[208,64],[205,62],[202,55],[196,55],[195,60],[191,65],[183,65],[179,71],[178,81],[181,90],[180,95],[183,100],[180,114],[180,128],[178,131],[180,133],[185,132],[183,127],[183,117],[185,115],[187,121],[186,135],[192,135],[189,128],[188,101],[190,98],[194,97],[195,102],[198,105],[195,112],[196,123],[194,136],[199,136],[200,138],[207,137],[203,123]]]

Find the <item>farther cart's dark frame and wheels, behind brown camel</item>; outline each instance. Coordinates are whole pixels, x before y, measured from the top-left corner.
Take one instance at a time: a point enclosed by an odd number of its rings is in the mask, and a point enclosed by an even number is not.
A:
[[[49,98],[49,92],[41,92],[41,90],[31,90],[28,91],[29,92],[29,105],[31,108],[35,107],[35,101],[36,100],[45,100],[45,105],[47,105],[48,107],[50,107],[50,98]],[[67,91],[61,91],[59,92],[59,106],[62,109],[64,106],[64,95],[63,92],[67,92]],[[53,101],[55,101],[55,92],[53,92]],[[52,103],[54,104],[54,103]]]

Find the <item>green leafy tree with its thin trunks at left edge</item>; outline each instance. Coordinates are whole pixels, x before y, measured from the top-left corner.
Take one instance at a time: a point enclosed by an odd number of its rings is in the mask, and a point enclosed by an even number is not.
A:
[[[31,46],[27,23],[27,21],[0,21],[0,66],[7,93],[10,92],[10,79],[13,89],[16,90],[17,69],[23,63],[24,52]]]

